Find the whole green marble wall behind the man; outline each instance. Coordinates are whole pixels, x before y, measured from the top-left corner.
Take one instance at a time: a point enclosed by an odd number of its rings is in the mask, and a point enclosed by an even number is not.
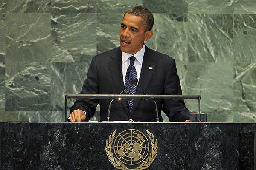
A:
[[[64,94],[81,91],[94,55],[119,46],[132,6],[154,13],[146,45],[176,59],[208,122],[256,122],[255,0],[0,0],[0,121],[64,121]]]

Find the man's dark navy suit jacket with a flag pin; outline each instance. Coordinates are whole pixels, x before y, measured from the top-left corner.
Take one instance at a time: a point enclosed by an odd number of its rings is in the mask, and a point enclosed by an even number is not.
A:
[[[145,46],[138,87],[146,94],[181,95],[175,60]],[[122,53],[118,47],[93,57],[80,94],[119,94],[124,88]],[[136,94],[142,93],[137,90]],[[110,99],[77,99],[70,112],[76,109],[86,111],[86,120],[89,120],[100,103],[100,120],[106,121],[110,101]],[[190,112],[183,100],[160,99],[156,102],[160,121],[163,120],[160,114],[162,109],[170,122],[185,122],[189,119]],[[129,113],[126,99],[115,100],[111,106],[110,117],[111,121],[133,119],[134,122],[153,122],[156,121],[155,105],[151,100],[134,100],[132,111]]]

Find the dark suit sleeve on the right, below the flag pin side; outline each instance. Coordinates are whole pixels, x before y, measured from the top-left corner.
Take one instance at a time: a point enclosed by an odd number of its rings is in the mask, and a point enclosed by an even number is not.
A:
[[[177,75],[175,60],[172,59],[166,75],[164,94],[181,95],[180,79]],[[163,112],[170,122],[185,122],[190,118],[190,112],[185,106],[184,100],[168,99],[163,101]]]

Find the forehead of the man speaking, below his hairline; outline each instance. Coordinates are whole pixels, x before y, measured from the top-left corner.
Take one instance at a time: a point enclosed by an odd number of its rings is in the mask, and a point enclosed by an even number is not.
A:
[[[143,18],[126,13],[122,23],[126,26],[144,27]]]

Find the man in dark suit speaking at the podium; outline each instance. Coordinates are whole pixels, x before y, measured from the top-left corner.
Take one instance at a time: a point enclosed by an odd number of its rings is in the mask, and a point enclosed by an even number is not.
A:
[[[119,94],[138,78],[138,87],[146,94],[181,95],[175,60],[145,46],[153,36],[154,17],[141,6],[126,11],[120,27],[120,47],[93,57],[80,94]],[[133,87],[134,86],[134,87]],[[126,94],[142,94],[132,85]],[[185,122],[190,112],[183,100],[157,100],[157,109],[170,122]],[[70,108],[70,121],[88,121],[100,103],[100,120],[106,121],[109,99],[77,99]],[[159,115],[160,121],[163,120]],[[111,106],[111,121],[133,119],[135,122],[156,120],[151,100],[116,100]]]

